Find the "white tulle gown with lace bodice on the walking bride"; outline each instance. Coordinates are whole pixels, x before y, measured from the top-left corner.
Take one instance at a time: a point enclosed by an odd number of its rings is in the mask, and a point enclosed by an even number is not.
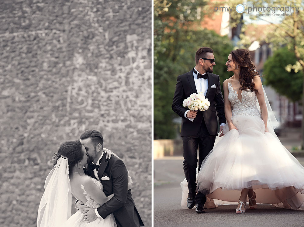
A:
[[[272,129],[265,132],[256,94],[242,91],[240,100],[229,82],[228,91],[237,130],[229,131],[226,124],[225,136],[216,138],[197,176],[199,191],[208,194],[207,203],[210,198],[238,202],[241,190],[252,188],[257,203],[303,209],[304,167]],[[181,186],[186,191],[185,182]]]

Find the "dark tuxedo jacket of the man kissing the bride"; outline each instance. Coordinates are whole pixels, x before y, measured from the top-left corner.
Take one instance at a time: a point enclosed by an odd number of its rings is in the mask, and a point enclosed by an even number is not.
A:
[[[97,208],[99,215],[106,218],[113,213],[118,227],[138,226],[136,218],[139,219],[140,226],[144,226],[135,207],[131,189],[128,191],[128,171],[123,161],[113,155],[111,159],[106,159],[104,154],[99,163],[98,177],[103,185],[103,192],[106,196],[114,194],[112,199]],[[87,172],[96,179],[93,169],[89,166]],[[105,176],[110,179],[105,180]]]

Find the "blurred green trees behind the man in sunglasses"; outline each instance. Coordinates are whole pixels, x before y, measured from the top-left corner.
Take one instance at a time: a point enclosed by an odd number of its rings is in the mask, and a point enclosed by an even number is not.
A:
[[[155,1],[154,1],[155,4]],[[221,82],[232,76],[225,63],[233,46],[226,36],[201,29],[202,1],[171,1],[168,11],[154,9],[154,139],[171,139],[177,135],[179,118],[172,109],[172,99],[178,75],[195,66],[195,52],[199,47],[214,50],[214,73]],[[168,4],[167,4],[168,5]],[[161,13],[159,13],[161,12]]]

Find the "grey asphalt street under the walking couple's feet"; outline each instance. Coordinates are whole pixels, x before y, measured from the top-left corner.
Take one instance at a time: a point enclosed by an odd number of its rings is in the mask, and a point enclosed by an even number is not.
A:
[[[304,165],[304,158],[298,158]],[[195,208],[181,208],[181,186],[185,178],[183,157],[154,160],[154,227],[304,227],[304,211],[273,205],[258,205],[257,210],[236,214],[236,205],[220,205],[196,214]]]

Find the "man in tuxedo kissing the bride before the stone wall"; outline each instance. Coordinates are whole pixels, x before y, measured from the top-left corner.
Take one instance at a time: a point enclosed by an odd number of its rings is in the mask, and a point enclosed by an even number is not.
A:
[[[131,189],[128,190],[128,174],[125,164],[117,156],[107,158],[103,153],[103,137],[96,130],[87,130],[80,136],[80,142],[87,152],[87,173],[102,182],[103,192],[106,196],[114,197],[97,209],[88,208],[80,202],[75,206],[81,211],[85,210],[85,220],[94,221],[97,217],[106,218],[112,214],[118,227],[144,226],[143,221],[135,207]]]

